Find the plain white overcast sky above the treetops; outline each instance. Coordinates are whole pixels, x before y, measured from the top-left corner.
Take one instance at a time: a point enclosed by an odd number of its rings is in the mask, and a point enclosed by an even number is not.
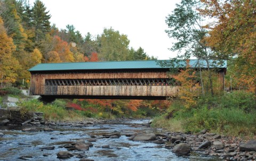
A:
[[[30,0],[33,5],[35,0]],[[90,32],[102,34],[112,27],[127,35],[130,47],[140,46],[150,55],[161,59],[173,58],[168,48],[173,40],[167,36],[165,19],[180,0],[41,0],[50,11],[51,23],[59,29],[74,25],[82,36]]]

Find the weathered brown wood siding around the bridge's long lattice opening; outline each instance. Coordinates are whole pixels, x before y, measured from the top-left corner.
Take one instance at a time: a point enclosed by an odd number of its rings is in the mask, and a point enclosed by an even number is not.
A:
[[[172,86],[45,86],[45,79],[168,78],[165,71],[135,73],[31,74],[32,95],[131,95],[169,96]]]

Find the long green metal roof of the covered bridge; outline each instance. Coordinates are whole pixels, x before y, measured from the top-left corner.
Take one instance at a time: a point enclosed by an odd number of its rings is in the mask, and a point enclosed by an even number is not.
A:
[[[170,67],[186,67],[185,60],[172,63],[172,60],[138,60],[138,61],[98,61],[98,62],[64,62],[64,63],[39,63],[28,71],[58,71],[58,70],[107,70],[107,69],[155,69]],[[191,67],[198,67],[198,62],[202,68],[206,67],[206,62],[201,60],[190,60]],[[213,62],[213,61],[212,61]],[[217,62],[214,67],[226,68],[227,62]],[[213,66],[212,66],[213,68]]]

